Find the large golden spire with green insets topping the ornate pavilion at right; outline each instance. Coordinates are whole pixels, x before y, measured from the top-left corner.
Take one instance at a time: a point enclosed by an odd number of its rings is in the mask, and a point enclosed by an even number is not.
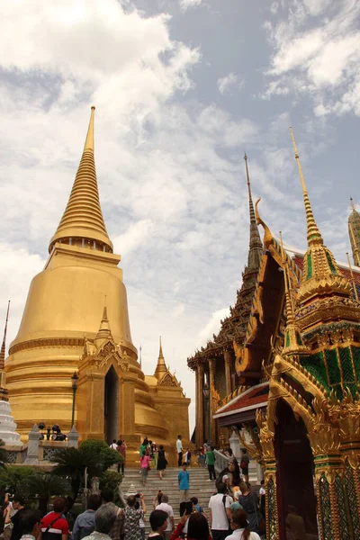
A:
[[[320,230],[314,220],[308,191],[302,175],[299,153],[293,136],[293,128],[290,128],[290,132],[292,134],[293,150],[302,182],[302,195],[308,229],[308,249],[304,256],[302,281],[297,296],[298,301],[302,304],[308,302],[313,297],[332,294],[349,296],[351,286],[347,279],[340,274],[331,251],[328,247],[324,246]]]

